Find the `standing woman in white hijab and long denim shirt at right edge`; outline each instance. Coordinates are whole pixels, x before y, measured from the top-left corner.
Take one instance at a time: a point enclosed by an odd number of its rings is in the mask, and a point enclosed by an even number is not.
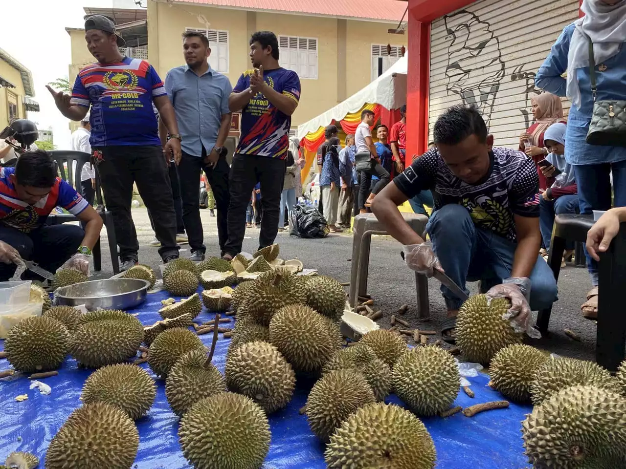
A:
[[[619,100],[626,89],[626,0],[583,0],[585,16],[563,29],[535,76],[539,88],[572,101],[565,133],[565,159],[575,169],[580,213],[608,210],[613,174],[615,206],[626,206],[626,147],[586,141],[593,113],[589,40],[593,42],[597,100]],[[567,79],[562,74],[567,71]],[[587,318],[597,317],[598,265],[587,255],[594,286],[582,306]]]

